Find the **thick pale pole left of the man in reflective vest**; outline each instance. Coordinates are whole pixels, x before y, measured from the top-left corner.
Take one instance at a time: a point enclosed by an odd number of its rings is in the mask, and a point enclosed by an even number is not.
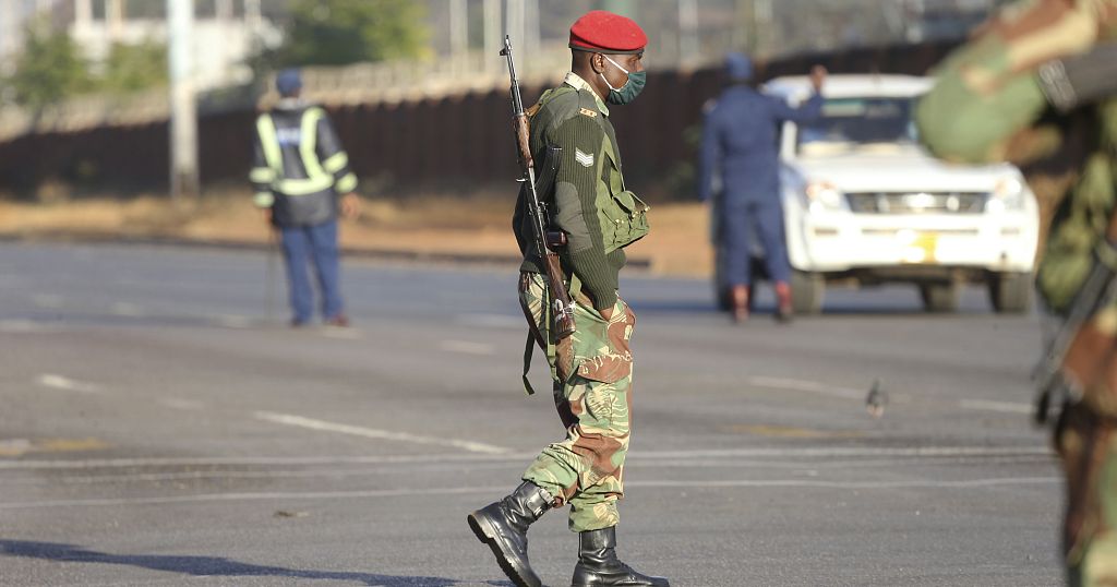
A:
[[[191,66],[193,0],[166,0],[171,69],[171,197],[197,196],[198,113]]]

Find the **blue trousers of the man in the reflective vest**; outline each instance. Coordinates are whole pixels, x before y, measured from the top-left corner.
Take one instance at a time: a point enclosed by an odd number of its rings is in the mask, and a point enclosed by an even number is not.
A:
[[[314,292],[307,266],[314,263],[322,293],[322,316],[326,320],[342,313],[340,288],[341,262],[337,252],[337,220],[315,226],[284,226],[283,256],[287,265],[287,284],[295,323],[309,322],[314,314]]]

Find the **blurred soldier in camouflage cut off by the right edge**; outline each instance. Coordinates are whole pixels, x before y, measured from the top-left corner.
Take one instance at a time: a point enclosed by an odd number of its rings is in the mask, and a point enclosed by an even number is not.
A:
[[[1117,268],[1114,40],[1117,0],[1013,4],[944,61],[917,112],[923,140],[939,157],[1009,160],[1042,170],[1030,177],[1037,187],[1059,183],[1052,171],[1070,186],[1054,207],[1037,285],[1073,334],[1058,366],[1067,398],[1054,445],[1067,476],[1063,550],[1076,586],[1117,585],[1117,306],[1077,329],[1069,319],[1087,276],[1105,269],[1097,264]]]

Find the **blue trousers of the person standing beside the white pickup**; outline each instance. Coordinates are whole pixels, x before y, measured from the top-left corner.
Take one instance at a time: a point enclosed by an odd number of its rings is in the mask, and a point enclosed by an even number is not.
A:
[[[752,244],[760,236],[764,261],[773,282],[790,282],[783,205],[773,198],[728,198],[723,203],[725,277],[729,286],[750,285]],[[754,230],[756,234],[754,234]]]

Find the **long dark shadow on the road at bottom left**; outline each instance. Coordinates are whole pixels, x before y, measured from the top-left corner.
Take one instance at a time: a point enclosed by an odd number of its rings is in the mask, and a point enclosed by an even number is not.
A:
[[[221,557],[190,557],[173,555],[111,555],[86,550],[74,545],[0,540],[0,555],[67,562],[97,562],[127,565],[145,569],[181,572],[195,577],[290,577],[297,579],[332,579],[361,581],[384,587],[452,587],[458,580],[441,577],[401,577],[372,572],[288,569],[265,565],[250,565]],[[488,581],[493,586],[510,586],[508,581]]]

